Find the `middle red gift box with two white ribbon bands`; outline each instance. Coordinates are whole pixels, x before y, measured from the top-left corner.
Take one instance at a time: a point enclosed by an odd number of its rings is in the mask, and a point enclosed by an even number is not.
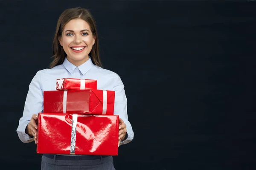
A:
[[[44,113],[113,115],[115,91],[44,91]]]

